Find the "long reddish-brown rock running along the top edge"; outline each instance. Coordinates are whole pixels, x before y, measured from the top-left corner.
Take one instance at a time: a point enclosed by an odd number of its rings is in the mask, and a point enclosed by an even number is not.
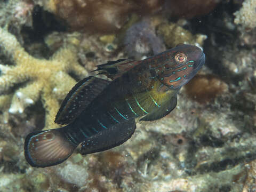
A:
[[[189,1],[89,1],[89,0],[64,0],[64,1],[40,1],[45,10],[57,15],[64,20],[71,30],[84,32],[114,33],[121,29],[130,15],[135,13],[139,17],[154,13],[167,12],[172,17],[193,18],[212,11],[220,2],[219,0],[189,0]]]

